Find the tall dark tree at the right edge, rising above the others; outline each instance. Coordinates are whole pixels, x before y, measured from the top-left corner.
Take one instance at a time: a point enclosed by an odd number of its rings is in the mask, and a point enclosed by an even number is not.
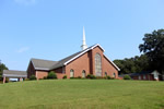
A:
[[[150,68],[164,72],[164,29],[145,34],[143,41],[139,49],[148,56],[151,64]]]

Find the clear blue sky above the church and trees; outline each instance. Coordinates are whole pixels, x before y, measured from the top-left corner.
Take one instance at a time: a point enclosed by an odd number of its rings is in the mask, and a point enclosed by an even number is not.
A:
[[[99,44],[110,59],[140,56],[145,33],[164,28],[164,0],[0,0],[0,60],[26,70]]]

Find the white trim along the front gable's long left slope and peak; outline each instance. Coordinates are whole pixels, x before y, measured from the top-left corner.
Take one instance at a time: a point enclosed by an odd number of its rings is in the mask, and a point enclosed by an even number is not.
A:
[[[99,46],[99,45],[96,44],[96,45],[94,45],[92,48],[86,48],[83,52],[81,52],[80,55],[78,55],[78,56],[73,57],[72,59],[68,60],[68,61],[65,62],[63,64],[67,65],[69,62],[73,61],[74,59],[79,58],[80,56],[84,55],[84,53],[87,52],[89,50],[94,49],[94,48],[97,47],[97,46]],[[101,47],[101,46],[99,46],[99,47]],[[102,47],[101,47],[101,49],[102,49],[103,51],[105,51]]]

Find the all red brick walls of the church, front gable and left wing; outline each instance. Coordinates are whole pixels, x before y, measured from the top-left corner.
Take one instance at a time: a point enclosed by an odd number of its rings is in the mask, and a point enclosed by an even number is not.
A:
[[[67,65],[55,69],[52,71],[56,72],[58,78],[62,78],[63,75],[67,75],[68,78],[70,78],[70,71],[74,71],[74,77],[82,76],[82,72],[85,71],[85,75],[93,74],[95,75],[95,55],[98,53],[102,59],[102,76],[105,76],[105,72],[109,76],[114,76],[115,78],[118,78],[118,70],[114,66],[114,64],[104,56],[104,50],[97,46],[93,48],[92,50],[89,50],[84,55],[78,57],[77,59],[69,62]],[[32,66],[32,63],[30,64],[28,76],[31,74],[35,74],[37,78],[43,78],[44,76],[47,76],[48,72],[45,71],[35,71],[34,66]],[[50,71],[49,71],[50,72]]]

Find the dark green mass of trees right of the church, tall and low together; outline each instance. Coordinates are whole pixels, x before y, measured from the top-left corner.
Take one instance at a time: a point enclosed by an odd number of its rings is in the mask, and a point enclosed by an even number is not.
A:
[[[124,60],[114,60],[120,68],[120,74],[157,70],[164,72],[164,29],[145,34],[143,44],[139,45],[143,55]]]

